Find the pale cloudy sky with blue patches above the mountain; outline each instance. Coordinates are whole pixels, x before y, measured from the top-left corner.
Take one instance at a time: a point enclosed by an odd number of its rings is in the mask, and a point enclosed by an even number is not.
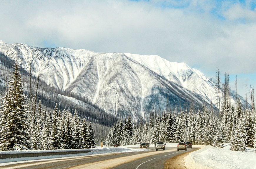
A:
[[[255,0],[0,0],[0,40],[37,47],[159,55],[245,97],[256,86]]]

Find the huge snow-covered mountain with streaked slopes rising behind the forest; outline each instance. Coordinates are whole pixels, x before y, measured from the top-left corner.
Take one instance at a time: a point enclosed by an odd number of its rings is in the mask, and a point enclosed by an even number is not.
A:
[[[216,104],[214,82],[187,64],[156,55],[38,48],[0,41],[0,52],[41,81],[87,98],[116,116]],[[40,71],[39,71],[40,70]],[[235,103],[235,99],[231,99]]]

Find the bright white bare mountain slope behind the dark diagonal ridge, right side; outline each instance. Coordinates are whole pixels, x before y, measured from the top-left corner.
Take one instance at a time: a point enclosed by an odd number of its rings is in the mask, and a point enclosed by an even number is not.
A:
[[[192,69],[185,63],[169,62],[156,55],[148,56],[130,53],[126,53],[125,55],[148,67],[167,80],[204,96],[209,103],[211,97],[213,102],[216,100],[214,99],[216,94],[214,82],[197,69]]]

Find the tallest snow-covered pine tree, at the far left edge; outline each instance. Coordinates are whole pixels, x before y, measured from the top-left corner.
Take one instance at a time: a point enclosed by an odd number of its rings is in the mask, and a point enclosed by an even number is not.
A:
[[[29,147],[29,129],[26,96],[23,91],[23,83],[19,74],[19,64],[14,65],[9,88],[3,97],[1,106],[1,131],[0,150],[25,150]]]

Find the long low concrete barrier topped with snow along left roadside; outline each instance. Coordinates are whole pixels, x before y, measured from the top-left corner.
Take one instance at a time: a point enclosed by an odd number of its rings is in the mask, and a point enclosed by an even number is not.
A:
[[[88,153],[90,150],[72,150],[72,151],[65,151],[65,150],[52,150],[51,152],[40,152],[39,151],[14,151],[14,152],[8,152],[0,153],[0,159],[6,159],[6,158],[21,158],[21,157],[39,157],[39,156],[58,156],[58,155],[66,155],[66,154],[80,154],[80,153]]]

